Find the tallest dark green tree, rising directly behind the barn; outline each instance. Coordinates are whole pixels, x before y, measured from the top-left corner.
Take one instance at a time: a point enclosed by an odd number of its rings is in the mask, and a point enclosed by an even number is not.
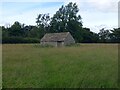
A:
[[[70,2],[63,6],[54,14],[50,22],[49,32],[70,32],[77,42],[82,40],[80,30],[82,30],[81,16],[77,15],[79,9],[76,3]]]

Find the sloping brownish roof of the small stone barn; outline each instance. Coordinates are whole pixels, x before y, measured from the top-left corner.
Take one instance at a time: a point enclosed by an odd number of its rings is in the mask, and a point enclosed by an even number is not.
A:
[[[41,39],[41,41],[64,41],[69,32],[62,32],[62,33],[47,33]]]

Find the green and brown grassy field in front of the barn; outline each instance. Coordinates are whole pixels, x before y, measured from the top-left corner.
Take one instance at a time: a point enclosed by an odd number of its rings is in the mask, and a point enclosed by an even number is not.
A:
[[[4,44],[3,88],[115,88],[117,44]]]

